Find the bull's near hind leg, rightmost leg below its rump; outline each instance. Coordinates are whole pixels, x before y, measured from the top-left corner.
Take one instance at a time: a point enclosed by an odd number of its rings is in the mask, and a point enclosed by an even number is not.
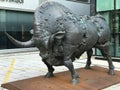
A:
[[[109,55],[109,42],[106,42],[103,45],[99,46],[99,49],[101,50],[101,53],[106,59],[108,60],[109,65],[109,74],[114,75],[114,65],[112,63],[111,56]]]

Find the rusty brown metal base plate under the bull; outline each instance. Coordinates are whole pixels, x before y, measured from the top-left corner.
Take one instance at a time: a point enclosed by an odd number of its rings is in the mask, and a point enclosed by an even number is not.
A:
[[[106,73],[107,69],[97,66],[91,70],[81,68],[77,72],[80,82],[76,85],[70,83],[70,72],[66,71],[55,74],[53,78],[39,76],[2,84],[2,87],[9,90],[101,90],[120,82],[120,72],[115,71],[115,75],[110,76]]]

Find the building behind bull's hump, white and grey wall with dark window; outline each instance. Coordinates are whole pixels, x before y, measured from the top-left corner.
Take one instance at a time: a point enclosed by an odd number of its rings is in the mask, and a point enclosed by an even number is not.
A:
[[[0,50],[18,48],[5,36],[5,31],[20,41],[31,38],[34,11],[44,1],[59,2],[77,15],[90,15],[90,0],[0,0]]]

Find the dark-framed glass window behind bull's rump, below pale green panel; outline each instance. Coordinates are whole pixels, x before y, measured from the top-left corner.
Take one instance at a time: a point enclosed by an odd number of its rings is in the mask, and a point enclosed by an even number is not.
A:
[[[116,17],[114,16],[114,11],[99,13],[105,17],[110,26],[110,55],[113,57],[120,57],[120,10],[117,10]],[[101,55],[101,52],[98,49],[96,49],[96,55]]]

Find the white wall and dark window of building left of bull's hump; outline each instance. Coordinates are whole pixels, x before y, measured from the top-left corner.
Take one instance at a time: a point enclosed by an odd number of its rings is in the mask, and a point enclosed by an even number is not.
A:
[[[17,48],[5,36],[4,32],[20,41],[30,39],[33,28],[33,13],[39,0],[0,0],[0,49]]]

